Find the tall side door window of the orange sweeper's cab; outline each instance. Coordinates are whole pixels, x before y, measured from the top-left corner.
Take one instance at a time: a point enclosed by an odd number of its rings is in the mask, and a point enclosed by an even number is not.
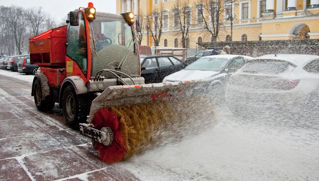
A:
[[[77,62],[80,69],[86,74],[87,71],[87,46],[85,24],[82,13],[79,13],[79,26],[68,25],[68,46],[66,55]]]

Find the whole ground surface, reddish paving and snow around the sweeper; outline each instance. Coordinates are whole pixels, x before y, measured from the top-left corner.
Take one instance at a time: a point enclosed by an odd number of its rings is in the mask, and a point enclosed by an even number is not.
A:
[[[31,82],[0,70],[0,181],[319,180],[318,116],[247,121],[222,104],[215,127],[107,165],[61,110],[36,109]]]

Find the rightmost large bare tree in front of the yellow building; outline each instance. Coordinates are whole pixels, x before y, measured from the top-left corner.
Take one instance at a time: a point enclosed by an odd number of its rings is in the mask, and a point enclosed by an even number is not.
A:
[[[223,2],[222,0],[198,0],[198,3],[196,9],[200,16],[197,16],[197,22],[204,24],[204,28],[211,34],[211,41],[215,42],[222,27],[220,17],[224,12]],[[205,12],[208,13],[207,16]]]

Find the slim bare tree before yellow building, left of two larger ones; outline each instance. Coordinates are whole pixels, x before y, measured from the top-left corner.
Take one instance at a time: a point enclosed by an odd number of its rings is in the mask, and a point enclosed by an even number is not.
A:
[[[160,9],[155,8],[152,14],[146,17],[147,29],[151,32],[155,46],[160,44],[160,36],[163,30],[163,4]]]

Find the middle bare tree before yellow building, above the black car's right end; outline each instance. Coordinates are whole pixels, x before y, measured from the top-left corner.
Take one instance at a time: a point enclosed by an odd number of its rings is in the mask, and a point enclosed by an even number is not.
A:
[[[173,9],[174,26],[178,29],[178,34],[182,36],[182,47],[187,48],[189,28],[191,25],[191,7],[189,0],[177,0]]]

